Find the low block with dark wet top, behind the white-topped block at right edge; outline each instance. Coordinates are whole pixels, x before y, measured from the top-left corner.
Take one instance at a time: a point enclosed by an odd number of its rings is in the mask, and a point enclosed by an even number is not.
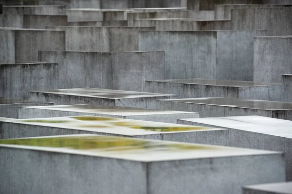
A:
[[[226,97],[158,100],[157,109],[200,113],[201,117],[258,115],[292,120],[292,103]]]

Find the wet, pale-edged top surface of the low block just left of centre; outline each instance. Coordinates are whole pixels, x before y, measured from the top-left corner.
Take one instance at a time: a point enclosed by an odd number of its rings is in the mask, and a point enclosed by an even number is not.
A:
[[[32,91],[32,92],[56,94],[56,95],[82,96],[82,97],[98,97],[98,98],[108,98],[108,99],[176,96],[172,94],[157,94],[157,93],[110,90],[110,89],[99,89],[99,88],[72,88],[72,89]]]

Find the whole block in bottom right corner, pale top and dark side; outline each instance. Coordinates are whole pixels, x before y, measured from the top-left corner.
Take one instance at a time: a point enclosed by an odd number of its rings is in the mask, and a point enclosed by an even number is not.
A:
[[[242,194],[292,194],[292,182],[244,186]]]

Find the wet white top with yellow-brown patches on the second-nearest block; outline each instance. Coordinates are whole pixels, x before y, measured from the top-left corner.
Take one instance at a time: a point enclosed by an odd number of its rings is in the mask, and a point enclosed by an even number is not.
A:
[[[71,116],[35,119],[13,119],[0,117],[0,122],[20,123],[24,125],[46,126],[61,129],[84,130],[126,136],[195,132],[205,130],[224,130],[217,128],[205,128],[198,126],[101,116]]]

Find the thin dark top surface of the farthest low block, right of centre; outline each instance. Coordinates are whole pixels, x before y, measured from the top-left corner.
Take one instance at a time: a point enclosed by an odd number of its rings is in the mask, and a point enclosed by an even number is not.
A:
[[[267,86],[267,85],[281,85],[280,83],[261,83],[254,81],[234,81],[234,80],[210,80],[210,79],[177,79],[177,80],[157,80],[157,82],[169,83],[184,83],[194,85],[218,85],[229,87],[251,87],[251,86]]]

